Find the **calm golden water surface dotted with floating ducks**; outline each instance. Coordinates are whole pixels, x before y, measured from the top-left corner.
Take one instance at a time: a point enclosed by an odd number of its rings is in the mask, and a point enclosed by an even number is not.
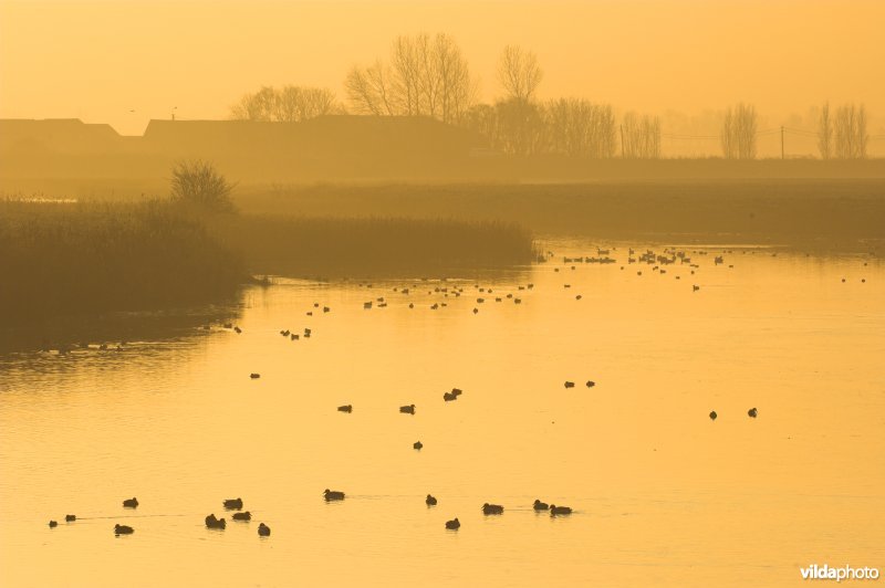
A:
[[[718,248],[659,274],[625,246],[575,270],[561,255],[595,246],[550,249],[483,276],[492,293],[281,280],[246,293],[241,335],[1,356],[0,585],[774,586],[812,563],[885,567],[878,261],[736,248],[715,265]],[[206,529],[236,496],[254,519]]]

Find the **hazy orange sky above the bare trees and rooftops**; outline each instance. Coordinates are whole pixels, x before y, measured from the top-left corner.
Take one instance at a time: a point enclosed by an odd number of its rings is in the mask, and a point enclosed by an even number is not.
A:
[[[262,84],[332,87],[402,33],[448,32],[497,92],[500,49],[532,49],[542,97],[694,113],[749,101],[885,114],[885,0],[0,0],[0,117],[220,118]],[[135,113],[129,111],[134,109]]]

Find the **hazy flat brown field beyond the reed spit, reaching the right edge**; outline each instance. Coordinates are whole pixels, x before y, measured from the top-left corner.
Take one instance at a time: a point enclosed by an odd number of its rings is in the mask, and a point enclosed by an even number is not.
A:
[[[535,234],[693,239],[856,249],[885,239],[885,180],[698,180],[558,185],[316,183],[242,188],[254,213],[395,214],[517,223]]]

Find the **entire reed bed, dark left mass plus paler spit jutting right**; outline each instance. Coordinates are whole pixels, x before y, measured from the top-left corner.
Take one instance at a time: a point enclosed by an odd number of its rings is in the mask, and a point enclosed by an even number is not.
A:
[[[168,201],[0,201],[0,316],[230,298],[250,273],[348,276],[530,263],[514,224],[209,213]]]

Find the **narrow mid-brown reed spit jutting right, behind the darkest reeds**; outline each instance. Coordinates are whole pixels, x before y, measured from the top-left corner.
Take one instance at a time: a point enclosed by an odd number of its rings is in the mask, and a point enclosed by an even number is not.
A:
[[[211,231],[251,271],[357,276],[530,263],[531,234],[516,224],[403,218],[218,217]]]

